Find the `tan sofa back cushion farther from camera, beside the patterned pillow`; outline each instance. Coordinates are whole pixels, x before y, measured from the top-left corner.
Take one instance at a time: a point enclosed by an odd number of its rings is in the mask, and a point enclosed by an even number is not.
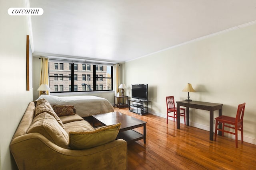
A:
[[[46,99],[40,99],[36,102],[35,117],[44,112],[47,112],[50,115],[52,115],[58,121],[58,123],[61,125],[61,127],[64,128],[64,125],[63,125],[62,121],[60,120],[60,117],[58,117],[58,115],[54,112],[50,103],[47,102]]]

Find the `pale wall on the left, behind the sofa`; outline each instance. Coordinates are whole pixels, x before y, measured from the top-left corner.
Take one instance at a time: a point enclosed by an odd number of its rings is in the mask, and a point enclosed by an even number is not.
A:
[[[32,90],[26,91],[26,16],[9,16],[10,7],[26,7],[25,0],[0,2],[0,158],[3,170],[16,169],[9,145],[16,128],[32,101]]]

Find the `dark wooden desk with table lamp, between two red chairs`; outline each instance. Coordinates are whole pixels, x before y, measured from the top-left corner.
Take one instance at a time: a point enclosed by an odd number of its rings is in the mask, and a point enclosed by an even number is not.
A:
[[[177,103],[177,129],[180,129],[180,106],[186,107],[186,123],[189,126],[189,108],[202,109],[210,111],[210,141],[213,141],[213,111],[219,110],[219,116],[222,115],[222,106],[223,104],[218,103],[208,103],[208,102],[198,102],[198,101],[179,101]],[[219,128],[222,129],[222,125],[219,125]],[[219,131],[221,135],[221,131]]]

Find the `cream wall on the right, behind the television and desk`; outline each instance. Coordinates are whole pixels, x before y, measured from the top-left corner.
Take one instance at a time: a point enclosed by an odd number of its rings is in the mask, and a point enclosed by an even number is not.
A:
[[[150,112],[161,117],[166,117],[166,96],[187,98],[182,92],[187,83],[196,90],[190,99],[222,103],[223,115],[235,116],[238,104],[246,102],[244,140],[256,144],[255,63],[256,24],[126,62],[124,82],[129,96],[132,83],[148,83]],[[190,125],[209,129],[208,111],[190,113]]]

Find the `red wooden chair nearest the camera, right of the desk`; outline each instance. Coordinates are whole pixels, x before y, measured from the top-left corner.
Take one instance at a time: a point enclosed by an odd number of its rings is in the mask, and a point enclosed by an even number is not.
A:
[[[233,135],[236,135],[236,148],[237,148],[237,141],[238,141],[238,131],[241,131],[241,141],[244,143],[244,132],[243,132],[243,118],[244,118],[244,108],[245,108],[245,103],[238,105],[238,109],[236,112],[236,117],[229,117],[229,116],[219,116],[216,117],[216,123],[215,123],[215,139],[217,137],[217,130],[222,131],[222,137],[224,136],[224,132],[230,133]],[[229,125],[226,125],[226,124]],[[218,129],[218,125],[222,124],[222,129]],[[232,126],[231,126],[232,125]],[[235,132],[227,131],[224,130],[224,127],[229,127],[231,129],[235,129]]]

